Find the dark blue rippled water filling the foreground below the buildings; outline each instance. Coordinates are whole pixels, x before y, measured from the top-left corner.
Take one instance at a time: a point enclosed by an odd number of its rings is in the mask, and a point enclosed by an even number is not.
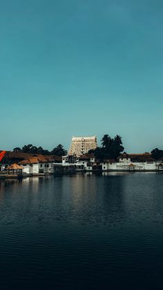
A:
[[[163,174],[0,181],[0,289],[163,289]]]

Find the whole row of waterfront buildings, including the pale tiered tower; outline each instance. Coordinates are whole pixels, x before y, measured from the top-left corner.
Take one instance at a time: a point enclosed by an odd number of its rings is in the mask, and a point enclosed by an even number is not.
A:
[[[66,156],[7,152],[8,174],[57,174],[66,172],[110,172],[110,171],[163,171],[163,158],[155,160],[150,153],[127,154],[124,152],[117,161],[107,159],[100,161],[90,149],[97,147],[96,136],[74,137]]]

